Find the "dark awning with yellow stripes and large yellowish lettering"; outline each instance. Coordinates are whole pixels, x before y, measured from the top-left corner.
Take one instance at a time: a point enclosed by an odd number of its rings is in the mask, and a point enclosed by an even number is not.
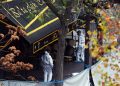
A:
[[[60,21],[43,0],[14,0],[2,4],[2,13],[27,32],[25,37],[34,43],[60,28]],[[52,39],[49,39],[52,40]]]

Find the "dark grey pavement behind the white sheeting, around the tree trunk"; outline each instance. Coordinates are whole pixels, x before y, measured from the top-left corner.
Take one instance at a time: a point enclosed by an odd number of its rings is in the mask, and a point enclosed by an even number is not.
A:
[[[72,74],[77,74],[80,73],[82,70],[84,70],[84,63],[83,62],[65,62],[64,63],[64,70],[63,70],[63,77],[64,79],[67,79],[71,76]],[[33,76],[37,78],[37,80],[43,81],[43,71],[42,68],[39,70],[33,71]],[[53,80],[54,80],[54,69],[53,69]]]

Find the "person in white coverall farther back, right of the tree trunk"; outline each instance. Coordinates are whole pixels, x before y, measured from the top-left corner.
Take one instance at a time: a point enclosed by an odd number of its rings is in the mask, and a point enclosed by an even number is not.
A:
[[[84,61],[85,36],[81,31],[78,31],[78,47],[76,51],[76,61]]]

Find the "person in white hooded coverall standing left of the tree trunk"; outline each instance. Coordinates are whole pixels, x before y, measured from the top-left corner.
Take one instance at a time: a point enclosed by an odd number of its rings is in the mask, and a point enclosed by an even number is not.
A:
[[[52,80],[53,59],[51,55],[45,51],[45,54],[41,57],[42,67],[44,71],[44,82],[50,82]]]

